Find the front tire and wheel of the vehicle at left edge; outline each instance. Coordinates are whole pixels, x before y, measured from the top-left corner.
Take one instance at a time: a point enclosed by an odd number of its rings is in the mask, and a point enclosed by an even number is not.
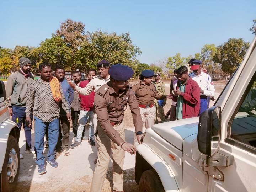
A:
[[[1,191],[15,190],[20,171],[20,150],[17,140],[9,135],[5,153],[4,164],[1,171]]]

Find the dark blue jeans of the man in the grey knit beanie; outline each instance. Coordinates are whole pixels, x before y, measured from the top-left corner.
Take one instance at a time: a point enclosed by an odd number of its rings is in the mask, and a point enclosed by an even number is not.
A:
[[[27,126],[25,123],[26,120],[26,107],[22,106],[12,106],[12,121],[17,123],[18,128],[21,130],[21,126],[23,124],[24,132],[25,132],[25,138],[26,138],[26,150],[31,149],[31,129],[32,124],[30,127]],[[33,121],[33,114],[30,114],[31,123]],[[20,139],[20,133],[18,133],[17,142],[19,142]]]

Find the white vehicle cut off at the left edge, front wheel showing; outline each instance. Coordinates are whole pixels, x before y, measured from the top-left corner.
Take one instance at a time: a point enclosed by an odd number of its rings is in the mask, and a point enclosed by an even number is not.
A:
[[[17,124],[9,120],[5,85],[0,80],[0,191],[14,191],[20,169]]]

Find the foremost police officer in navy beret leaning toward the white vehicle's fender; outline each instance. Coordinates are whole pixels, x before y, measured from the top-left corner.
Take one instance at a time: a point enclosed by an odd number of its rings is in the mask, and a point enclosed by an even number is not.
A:
[[[125,142],[124,110],[127,104],[132,110],[137,140],[143,139],[143,122],[132,86],[128,81],[133,70],[116,64],[110,67],[110,82],[102,85],[94,97],[98,123],[95,135],[98,143],[98,160],[92,178],[91,192],[100,192],[106,177],[110,154],[113,154],[113,191],[123,191],[124,151],[135,154],[136,147]]]

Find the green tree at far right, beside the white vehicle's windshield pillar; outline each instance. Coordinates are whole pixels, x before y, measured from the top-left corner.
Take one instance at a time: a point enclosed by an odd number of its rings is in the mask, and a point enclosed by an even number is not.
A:
[[[244,42],[242,38],[230,38],[228,42],[217,47],[213,61],[221,65],[224,73],[232,75],[238,65],[242,62],[250,43]]]

